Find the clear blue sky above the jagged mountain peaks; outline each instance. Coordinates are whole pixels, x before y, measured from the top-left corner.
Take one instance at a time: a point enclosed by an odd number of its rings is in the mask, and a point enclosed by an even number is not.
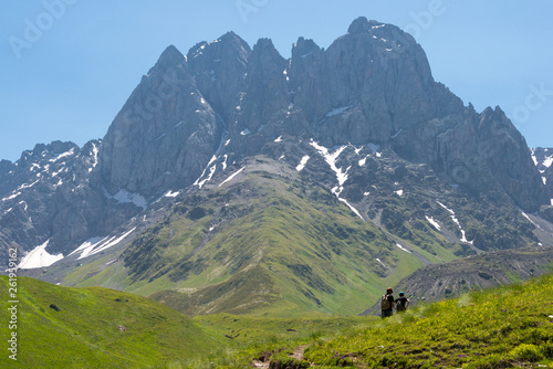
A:
[[[289,57],[299,36],[327,48],[359,15],[414,33],[436,81],[553,147],[551,0],[24,0],[0,12],[0,159],[102,138],[169,44],[186,53],[232,30]]]

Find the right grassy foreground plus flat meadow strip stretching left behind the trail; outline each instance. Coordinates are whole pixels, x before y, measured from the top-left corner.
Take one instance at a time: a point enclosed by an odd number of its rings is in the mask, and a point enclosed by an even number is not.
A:
[[[553,275],[422,305],[386,320],[226,314],[196,320],[236,337],[241,346],[194,368],[244,368],[271,355],[271,361],[293,361],[288,354],[299,346],[309,347],[303,366],[294,368],[553,366]]]

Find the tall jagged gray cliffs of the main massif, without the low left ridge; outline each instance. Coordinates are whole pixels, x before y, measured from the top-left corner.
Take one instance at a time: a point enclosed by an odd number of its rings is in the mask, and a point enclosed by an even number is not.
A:
[[[299,39],[291,60],[270,40],[238,35],[184,57],[168,48],[103,140],[109,193],[146,197],[191,184],[220,147],[238,158],[279,135],[325,147],[390,146],[476,193],[501,187],[526,211],[547,202],[524,138],[500,108],[478,114],[431,76],[426,55],[397,27],[355,20],[326,51]]]

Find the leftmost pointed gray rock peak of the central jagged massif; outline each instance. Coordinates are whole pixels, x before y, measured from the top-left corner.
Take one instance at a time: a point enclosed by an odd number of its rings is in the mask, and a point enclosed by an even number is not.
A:
[[[185,187],[220,143],[222,123],[186,59],[169,46],[115,117],[100,156],[102,184],[147,198]]]

